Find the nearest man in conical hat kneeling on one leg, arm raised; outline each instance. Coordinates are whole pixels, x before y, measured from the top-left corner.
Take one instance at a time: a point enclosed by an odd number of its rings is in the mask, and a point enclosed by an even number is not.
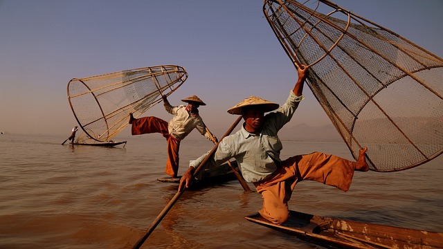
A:
[[[288,201],[296,183],[302,180],[318,181],[347,191],[354,171],[369,169],[365,161],[366,148],[361,149],[356,162],[320,152],[280,159],[282,142],[277,133],[291,120],[298,104],[303,100],[302,89],[306,77],[307,68],[300,66],[298,81],[280,108],[278,104],[251,96],[228,109],[228,113],[242,115],[244,124],[237,133],[226,136],[219,142],[217,150],[206,165],[213,167],[235,158],[244,179],[253,183],[257,192],[262,194],[260,214],[275,224],[289,219]],[[274,112],[265,116],[264,113],[268,111]],[[188,171],[180,179],[179,191],[183,187],[189,187],[195,168],[207,155],[208,153],[190,162]]]

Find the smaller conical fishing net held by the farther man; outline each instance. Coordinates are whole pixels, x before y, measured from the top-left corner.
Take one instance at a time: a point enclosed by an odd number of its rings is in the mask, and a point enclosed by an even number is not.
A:
[[[125,129],[134,117],[162,101],[188,78],[181,66],[152,66],[72,79],[68,100],[87,135],[105,142]]]

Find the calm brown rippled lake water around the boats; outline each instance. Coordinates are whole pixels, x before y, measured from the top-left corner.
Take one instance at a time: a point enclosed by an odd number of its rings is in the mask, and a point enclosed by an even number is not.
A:
[[[115,148],[60,145],[64,136],[0,135],[0,248],[131,248],[177,192],[165,177],[166,143],[116,138]],[[213,145],[184,140],[181,169]],[[343,143],[284,142],[282,158]],[[443,156],[395,173],[356,172],[349,192],[302,182],[289,203],[301,212],[443,232]],[[250,185],[253,190],[253,185]],[[246,221],[261,197],[236,181],[186,191],[143,248],[318,248]]]

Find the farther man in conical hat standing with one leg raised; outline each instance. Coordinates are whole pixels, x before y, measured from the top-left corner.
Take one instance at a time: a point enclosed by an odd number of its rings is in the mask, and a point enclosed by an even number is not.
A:
[[[130,114],[129,124],[132,124],[132,135],[145,133],[161,133],[168,142],[168,160],[166,162],[165,173],[172,178],[177,178],[179,172],[179,149],[180,142],[193,130],[197,129],[201,135],[214,143],[217,138],[210,133],[209,129],[199,116],[199,107],[206,105],[196,95],[181,100],[188,105],[181,104],[173,107],[166,96],[163,96],[163,106],[168,113],[174,115],[169,122],[156,117],[134,118]]]

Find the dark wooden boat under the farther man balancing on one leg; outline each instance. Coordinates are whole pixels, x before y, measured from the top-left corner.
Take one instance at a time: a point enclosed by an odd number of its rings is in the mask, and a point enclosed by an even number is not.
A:
[[[237,167],[237,162],[231,162],[231,165],[235,168],[237,172],[239,172],[239,168]],[[181,176],[178,178],[158,178],[157,181],[161,181],[162,183],[179,183]],[[229,167],[228,163],[224,163],[219,167],[214,167],[211,169],[204,169],[201,173],[201,176],[197,177],[194,181],[192,181],[192,188],[199,187],[208,187],[214,185],[220,185],[221,183],[226,183],[228,181],[236,180],[235,173]]]

